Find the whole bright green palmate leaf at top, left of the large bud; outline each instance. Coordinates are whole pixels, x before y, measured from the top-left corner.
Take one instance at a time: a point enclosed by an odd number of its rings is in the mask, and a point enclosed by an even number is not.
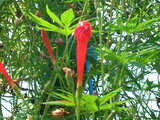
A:
[[[77,24],[71,26],[70,28],[69,26],[73,21],[79,18],[74,19],[75,15],[72,9],[66,10],[64,13],[62,13],[61,20],[53,12],[50,11],[48,5],[46,5],[46,11],[47,11],[47,14],[50,16],[50,18],[53,19],[54,22],[60,25],[63,29],[49,23],[48,21],[45,21],[37,17],[36,15],[30,12],[28,15],[29,18],[31,18],[34,22],[42,26],[42,27],[36,27],[37,29],[43,28],[45,31],[53,31],[53,32],[63,34],[65,36],[69,36],[71,33],[73,33],[73,29],[77,26]]]

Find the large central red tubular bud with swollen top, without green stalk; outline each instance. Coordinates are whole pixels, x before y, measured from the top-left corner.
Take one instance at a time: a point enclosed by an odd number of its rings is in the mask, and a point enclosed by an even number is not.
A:
[[[91,38],[92,27],[89,22],[81,21],[74,31],[75,37],[77,39],[77,72],[78,81],[77,87],[82,86],[84,64],[87,52],[87,43]]]

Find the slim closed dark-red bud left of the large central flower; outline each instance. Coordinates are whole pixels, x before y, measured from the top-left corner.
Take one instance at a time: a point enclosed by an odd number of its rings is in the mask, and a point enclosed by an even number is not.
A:
[[[49,43],[48,36],[45,33],[44,29],[41,29],[41,37],[42,37],[43,42],[44,42],[44,44],[45,44],[45,46],[46,46],[46,48],[48,50],[49,55],[50,55],[50,57],[51,57],[51,59],[53,61],[53,64],[55,64],[56,60],[55,60],[54,54],[52,52],[52,48],[51,48],[51,45]]]

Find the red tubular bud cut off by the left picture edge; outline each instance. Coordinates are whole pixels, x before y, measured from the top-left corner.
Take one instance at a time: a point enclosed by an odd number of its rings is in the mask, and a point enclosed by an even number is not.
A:
[[[3,66],[3,64],[0,61],[0,72],[3,74],[3,76],[7,79],[8,83],[10,84],[10,86],[12,88],[15,87],[15,83],[12,81],[12,79],[10,78],[10,76],[8,75],[5,67]]]

